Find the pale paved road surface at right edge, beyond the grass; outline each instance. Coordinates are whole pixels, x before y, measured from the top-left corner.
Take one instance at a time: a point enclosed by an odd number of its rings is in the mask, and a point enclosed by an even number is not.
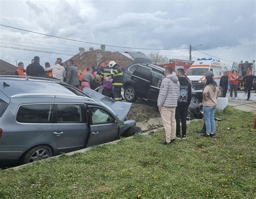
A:
[[[242,110],[246,112],[256,112],[255,101],[228,99],[228,105],[234,106],[234,108],[238,110]]]

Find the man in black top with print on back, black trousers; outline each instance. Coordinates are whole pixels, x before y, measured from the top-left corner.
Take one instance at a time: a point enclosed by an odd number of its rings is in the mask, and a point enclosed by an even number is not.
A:
[[[175,119],[176,119],[176,137],[177,139],[180,139],[180,120],[181,120],[181,129],[182,129],[182,138],[186,139],[186,131],[187,131],[187,110],[188,106],[191,102],[191,84],[186,79],[184,75],[184,69],[179,68],[176,72],[180,88],[179,88],[179,98],[178,98],[178,104],[176,107],[176,113],[175,113]]]

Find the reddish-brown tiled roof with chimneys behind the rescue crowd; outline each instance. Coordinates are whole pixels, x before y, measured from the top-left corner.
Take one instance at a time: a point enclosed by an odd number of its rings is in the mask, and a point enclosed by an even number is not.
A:
[[[85,49],[80,47],[79,53],[70,58],[74,61],[79,70],[83,70],[87,67],[98,66],[99,63],[105,61],[115,61],[121,68],[134,62],[132,59],[119,52],[105,51],[105,45],[100,46],[100,49],[89,48],[89,51],[85,52]],[[68,60],[64,62],[66,65]]]

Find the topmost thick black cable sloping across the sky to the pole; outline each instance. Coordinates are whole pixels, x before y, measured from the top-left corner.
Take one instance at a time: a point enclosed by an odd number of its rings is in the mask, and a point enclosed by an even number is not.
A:
[[[21,31],[25,31],[25,32],[31,32],[31,33],[35,33],[35,34],[41,34],[41,35],[45,35],[45,36],[48,36],[48,37],[55,37],[55,38],[58,38],[58,39],[65,39],[65,40],[70,40],[70,41],[83,42],[83,43],[86,43],[86,44],[102,45],[102,44],[95,43],[95,42],[81,41],[81,40],[76,40],[76,39],[68,39],[68,38],[64,38],[64,37],[58,37],[58,36],[55,36],[55,35],[50,35],[50,34],[44,34],[44,33],[35,32],[35,31],[29,31],[29,30],[19,29],[19,28],[17,28],[17,27],[6,26],[6,25],[3,25],[3,24],[0,24],[0,26],[9,27],[10,29],[16,29],[16,30],[21,30]],[[115,46],[115,45],[109,45],[109,44],[106,44],[105,46],[117,47],[117,48],[129,48],[129,49],[145,49],[145,50],[188,49],[188,48],[137,48],[137,47]]]

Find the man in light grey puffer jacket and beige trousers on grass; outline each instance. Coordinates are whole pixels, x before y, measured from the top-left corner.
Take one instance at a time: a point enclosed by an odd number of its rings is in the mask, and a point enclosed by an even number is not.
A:
[[[172,67],[165,68],[165,79],[161,82],[157,99],[165,129],[165,144],[174,144],[176,138],[175,112],[179,98],[179,81],[178,77],[172,74],[172,70]]]

